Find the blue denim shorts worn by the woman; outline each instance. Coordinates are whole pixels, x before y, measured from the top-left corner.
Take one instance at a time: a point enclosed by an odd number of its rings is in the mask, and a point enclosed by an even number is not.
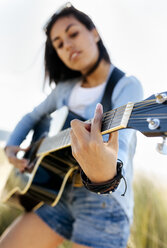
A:
[[[125,248],[130,223],[112,195],[98,195],[84,187],[66,186],[55,207],[35,211],[65,239],[93,248]]]

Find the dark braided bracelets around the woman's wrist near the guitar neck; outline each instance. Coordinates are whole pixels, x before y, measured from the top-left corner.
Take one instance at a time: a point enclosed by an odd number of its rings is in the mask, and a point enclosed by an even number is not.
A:
[[[124,176],[122,175],[122,167],[123,167],[123,162],[121,160],[118,160],[117,161],[117,175],[114,178],[112,178],[106,182],[102,182],[102,183],[91,182],[89,180],[89,178],[85,175],[83,170],[81,169],[82,183],[84,184],[86,189],[88,189],[94,193],[111,194],[117,189],[117,187],[121,181],[121,178],[123,178],[124,182],[125,182],[125,192],[122,194],[122,196],[124,196],[126,193],[127,184],[126,184],[126,180],[125,180]]]

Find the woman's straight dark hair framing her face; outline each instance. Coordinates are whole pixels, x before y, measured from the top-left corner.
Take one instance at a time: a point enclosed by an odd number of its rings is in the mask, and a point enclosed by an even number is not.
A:
[[[69,69],[59,58],[57,52],[55,51],[51,39],[50,31],[53,24],[65,16],[74,16],[79,22],[81,22],[88,30],[95,28],[93,21],[88,15],[76,9],[70,3],[66,4],[61,10],[58,10],[47,22],[45,26],[45,33],[47,36],[45,43],[45,79],[49,78],[49,82],[58,83],[59,81],[66,81],[68,79],[75,79],[81,77],[80,71],[75,71]],[[103,58],[106,62],[110,63],[110,58],[108,52],[103,44],[102,39],[97,43],[99,56]]]

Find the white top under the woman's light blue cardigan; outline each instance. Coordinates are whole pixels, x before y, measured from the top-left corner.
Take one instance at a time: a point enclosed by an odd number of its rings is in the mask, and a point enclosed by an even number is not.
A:
[[[72,89],[68,107],[72,112],[84,116],[85,107],[92,104],[104,91],[106,82],[91,88],[84,88],[78,82]]]

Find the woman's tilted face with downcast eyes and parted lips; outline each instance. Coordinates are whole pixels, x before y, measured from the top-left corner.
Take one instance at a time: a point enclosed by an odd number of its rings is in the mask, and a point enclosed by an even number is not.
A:
[[[72,70],[85,74],[98,59],[96,29],[88,30],[75,17],[62,17],[52,26],[52,45],[59,58]]]

